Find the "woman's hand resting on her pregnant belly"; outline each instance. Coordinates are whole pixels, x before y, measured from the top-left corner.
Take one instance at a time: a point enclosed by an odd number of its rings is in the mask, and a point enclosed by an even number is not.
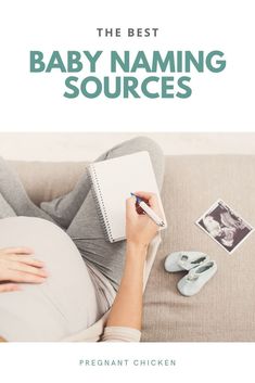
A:
[[[16,282],[44,282],[44,264],[35,259],[33,254],[29,247],[0,248],[0,293],[21,290]]]

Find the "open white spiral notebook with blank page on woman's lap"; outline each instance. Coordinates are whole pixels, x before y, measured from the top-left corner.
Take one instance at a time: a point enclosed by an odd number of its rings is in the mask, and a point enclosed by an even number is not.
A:
[[[88,166],[98,213],[110,242],[126,238],[126,199],[139,190],[157,194],[167,227],[155,174],[148,152],[137,152]],[[161,228],[162,229],[162,228]]]

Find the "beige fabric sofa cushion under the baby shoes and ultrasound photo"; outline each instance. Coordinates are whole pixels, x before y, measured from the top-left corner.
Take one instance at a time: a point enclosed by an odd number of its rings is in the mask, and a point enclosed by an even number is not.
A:
[[[255,156],[166,158],[168,229],[145,291],[142,341],[255,341],[255,233],[229,255],[194,224],[219,197],[255,226]],[[180,250],[199,250],[218,265],[192,297],[177,291],[183,272],[164,270],[165,256]]]

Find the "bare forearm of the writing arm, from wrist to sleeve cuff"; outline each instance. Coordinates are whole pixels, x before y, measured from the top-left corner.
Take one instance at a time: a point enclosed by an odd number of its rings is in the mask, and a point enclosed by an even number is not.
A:
[[[143,268],[146,250],[146,246],[127,243],[124,275],[106,322],[107,327],[141,329]]]

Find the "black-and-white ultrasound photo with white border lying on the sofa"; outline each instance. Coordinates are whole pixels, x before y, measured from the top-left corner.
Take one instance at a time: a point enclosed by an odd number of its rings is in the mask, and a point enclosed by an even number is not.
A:
[[[254,228],[222,200],[218,200],[195,222],[229,254],[252,233]]]

